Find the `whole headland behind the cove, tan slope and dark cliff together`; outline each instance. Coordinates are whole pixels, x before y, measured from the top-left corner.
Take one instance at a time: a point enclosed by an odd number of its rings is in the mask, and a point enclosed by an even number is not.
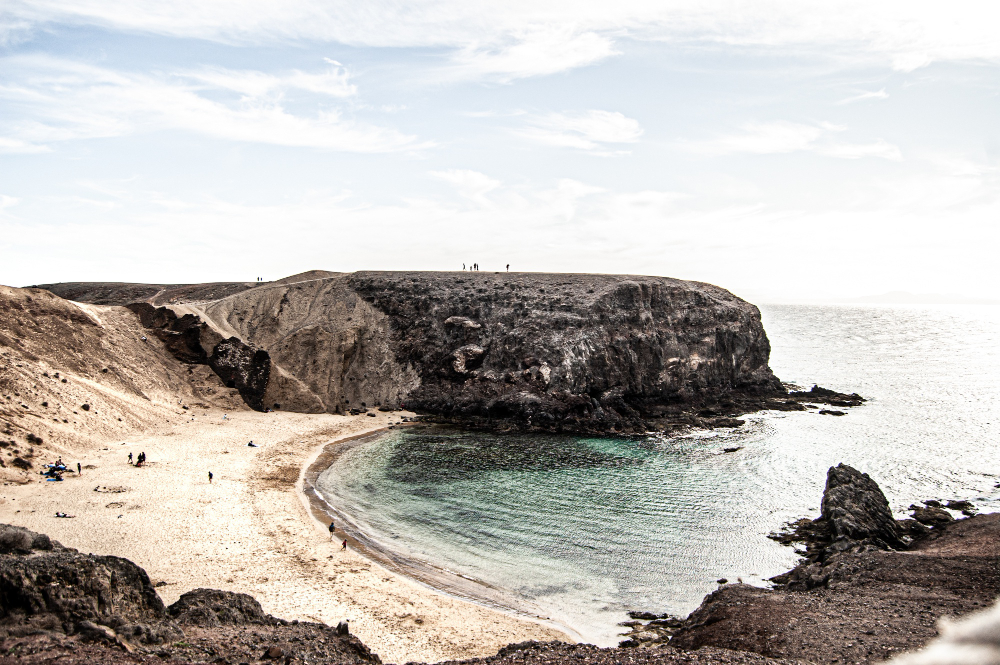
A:
[[[666,277],[314,271],[260,285],[44,288],[128,305],[258,410],[407,408],[466,427],[634,434],[863,402],[789,393],[755,306]],[[177,316],[180,305],[198,314]]]

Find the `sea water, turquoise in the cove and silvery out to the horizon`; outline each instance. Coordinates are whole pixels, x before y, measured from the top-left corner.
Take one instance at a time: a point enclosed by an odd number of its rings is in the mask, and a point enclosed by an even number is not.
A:
[[[898,511],[1000,506],[1000,308],[762,311],[779,377],[870,401],[676,438],[395,430],[346,451],[317,487],[384,550],[600,645],[617,642],[627,609],[686,614],[720,577],[765,584],[793,565],[765,536],[818,514],[832,464],[870,473]]]

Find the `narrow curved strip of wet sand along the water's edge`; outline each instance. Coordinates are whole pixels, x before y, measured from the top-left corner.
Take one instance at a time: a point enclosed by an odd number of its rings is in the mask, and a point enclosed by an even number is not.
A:
[[[363,445],[367,441],[385,435],[387,431],[387,427],[381,427],[329,441],[318,446],[303,464],[295,490],[303,507],[306,508],[317,526],[326,533],[327,525],[330,520],[333,520],[337,524],[337,531],[346,537],[348,545],[354,552],[385,570],[414,581],[435,593],[554,629],[565,636],[565,641],[578,642],[581,636],[572,628],[542,616],[538,613],[539,608],[533,605],[524,603],[518,606],[504,594],[503,590],[497,587],[482,580],[436,566],[429,561],[413,559],[391,551],[359,528],[351,520],[350,515],[331,505],[322,496],[316,486],[319,476],[351,447]],[[339,540],[340,537],[338,536],[335,540]]]

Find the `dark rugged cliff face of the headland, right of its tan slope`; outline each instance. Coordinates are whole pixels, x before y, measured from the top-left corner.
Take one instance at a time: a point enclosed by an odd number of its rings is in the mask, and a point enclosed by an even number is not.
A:
[[[753,305],[662,277],[356,273],[418,386],[408,408],[546,429],[643,429],[729,394],[780,391]]]

